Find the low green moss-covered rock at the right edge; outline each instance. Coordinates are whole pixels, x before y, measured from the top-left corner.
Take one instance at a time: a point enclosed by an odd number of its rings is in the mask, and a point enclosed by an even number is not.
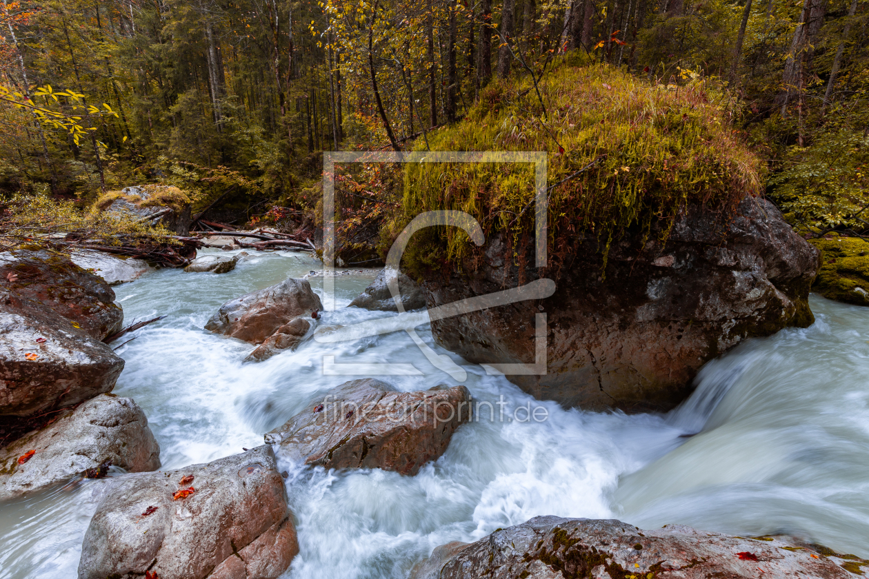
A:
[[[827,299],[869,306],[869,243],[856,237],[810,240],[821,252],[812,291]]]

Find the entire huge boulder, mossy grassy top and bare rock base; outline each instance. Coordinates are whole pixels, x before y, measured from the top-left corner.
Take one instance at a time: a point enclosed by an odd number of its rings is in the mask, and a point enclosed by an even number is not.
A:
[[[555,283],[544,299],[435,319],[439,344],[481,364],[540,362],[507,376],[537,398],[663,411],[690,394],[708,360],[813,322],[818,253],[760,196],[762,163],[734,133],[723,95],[607,65],[561,65],[541,94],[546,126],[530,81],[494,83],[463,122],[429,136],[432,150],[524,151],[525,162],[493,154],[405,168],[393,235],[447,209],[470,214],[484,238],[476,246],[459,227],[414,235],[402,264],[424,281],[429,308]],[[547,206],[536,205],[534,151],[550,152]]]

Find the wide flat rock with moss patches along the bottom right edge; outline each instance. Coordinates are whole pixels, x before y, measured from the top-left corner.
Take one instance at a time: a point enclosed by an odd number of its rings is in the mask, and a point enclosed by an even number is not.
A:
[[[869,576],[855,556],[779,538],[762,540],[667,525],[536,516],[476,543],[435,549],[411,579],[707,579]],[[843,568],[846,567],[848,570]]]

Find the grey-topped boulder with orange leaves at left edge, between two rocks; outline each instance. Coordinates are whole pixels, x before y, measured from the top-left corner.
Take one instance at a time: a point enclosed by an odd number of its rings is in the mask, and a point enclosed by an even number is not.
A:
[[[0,291],[0,417],[30,417],[111,391],[123,359],[47,306]]]

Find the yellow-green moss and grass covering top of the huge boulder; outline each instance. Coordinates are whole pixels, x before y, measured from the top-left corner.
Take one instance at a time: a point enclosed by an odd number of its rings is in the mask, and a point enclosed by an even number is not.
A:
[[[563,63],[541,81],[493,82],[466,118],[428,135],[446,151],[547,151],[549,247],[569,253],[568,237],[590,231],[606,256],[614,239],[653,220],[669,221],[689,203],[727,214],[759,194],[762,161],[733,130],[732,99],[712,83],[655,85],[606,64]],[[419,140],[416,150],[425,150]],[[583,169],[585,169],[583,171]],[[505,233],[514,260],[534,230],[530,164],[416,163],[406,166],[401,211],[384,245],[415,215],[458,209],[488,236]],[[440,269],[468,257],[472,244],[454,227],[427,230],[408,248],[408,271]]]

